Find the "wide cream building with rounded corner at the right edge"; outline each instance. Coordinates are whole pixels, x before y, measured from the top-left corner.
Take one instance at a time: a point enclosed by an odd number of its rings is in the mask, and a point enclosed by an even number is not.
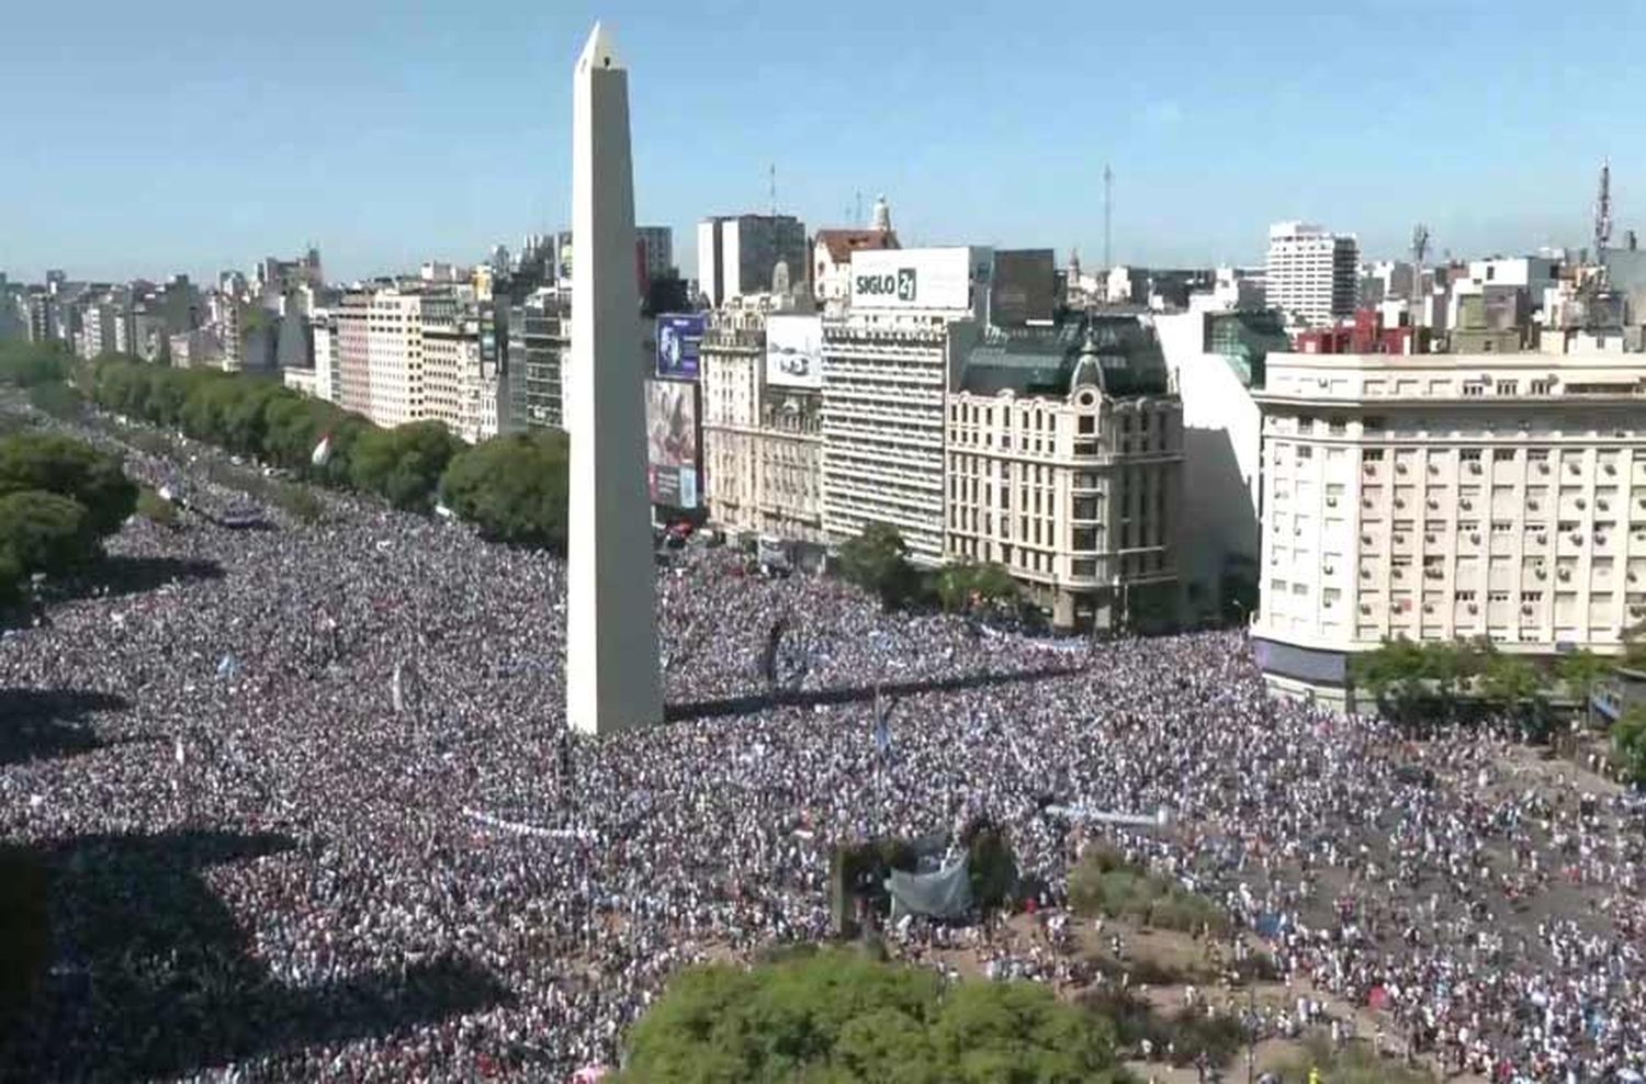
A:
[[[1345,702],[1389,637],[1615,651],[1646,617],[1646,357],[1271,354],[1272,688]]]

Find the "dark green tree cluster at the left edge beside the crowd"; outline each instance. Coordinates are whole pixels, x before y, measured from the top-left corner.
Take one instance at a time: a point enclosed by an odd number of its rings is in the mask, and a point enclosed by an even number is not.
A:
[[[36,572],[86,569],[135,507],[137,485],[91,444],[51,433],[0,438],[0,600],[15,600]]]

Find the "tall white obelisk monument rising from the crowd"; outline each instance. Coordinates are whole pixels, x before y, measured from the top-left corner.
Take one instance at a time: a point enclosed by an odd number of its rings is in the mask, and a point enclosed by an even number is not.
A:
[[[644,350],[634,262],[629,74],[599,26],[573,76],[571,431],[566,722],[614,734],[662,722],[645,485]]]

